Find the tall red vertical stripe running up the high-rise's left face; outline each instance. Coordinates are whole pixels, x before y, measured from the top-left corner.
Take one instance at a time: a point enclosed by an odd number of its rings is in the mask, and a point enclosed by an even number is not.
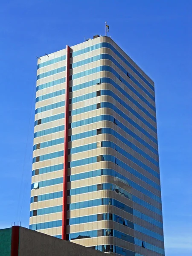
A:
[[[65,131],[64,131],[64,171],[63,171],[63,214],[62,239],[66,240],[67,227],[67,164],[68,164],[68,124],[69,124],[69,76],[70,47],[66,46],[66,87],[65,87]]]

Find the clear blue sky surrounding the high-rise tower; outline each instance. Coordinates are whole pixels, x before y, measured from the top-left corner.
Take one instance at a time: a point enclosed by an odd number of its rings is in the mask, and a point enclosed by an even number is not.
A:
[[[108,35],[155,82],[166,256],[192,255],[192,1],[6,0],[0,228],[29,224],[36,56]]]

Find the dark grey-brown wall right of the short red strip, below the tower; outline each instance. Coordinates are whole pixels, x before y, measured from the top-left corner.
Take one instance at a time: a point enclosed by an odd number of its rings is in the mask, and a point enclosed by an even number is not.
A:
[[[103,256],[97,250],[20,227],[19,256]]]

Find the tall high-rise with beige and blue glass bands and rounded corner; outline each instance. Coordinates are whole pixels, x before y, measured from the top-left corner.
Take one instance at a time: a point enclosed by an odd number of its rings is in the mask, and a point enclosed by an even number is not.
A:
[[[164,255],[154,82],[109,37],[38,59],[30,229]]]

